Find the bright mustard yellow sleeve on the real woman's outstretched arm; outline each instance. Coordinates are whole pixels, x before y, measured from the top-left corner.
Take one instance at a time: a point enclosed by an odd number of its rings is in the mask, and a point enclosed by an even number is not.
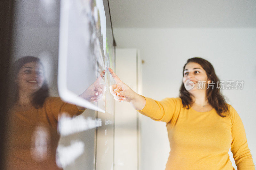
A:
[[[178,107],[181,102],[180,98],[165,98],[161,101],[148,97],[144,98],[146,99],[146,105],[138,111],[156,121],[170,122],[174,113],[180,108]]]

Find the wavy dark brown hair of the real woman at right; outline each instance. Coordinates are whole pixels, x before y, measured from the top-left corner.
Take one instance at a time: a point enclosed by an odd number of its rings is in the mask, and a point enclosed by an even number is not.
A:
[[[226,117],[229,114],[228,105],[225,100],[226,97],[222,95],[222,93],[220,92],[220,88],[217,87],[217,82],[219,82],[220,79],[215,74],[212,64],[200,57],[189,58],[187,63],[183,67],[182,77],[184,76],[183,73],[186,65],[191,62],[200,64],[201,67],[205,70],[207,78],[211,80],[211,83],[213,83],[213,88],[208,88],[206,90],[206,98],[208,100],[208,103],[217,111],[218,115],[220,115],[221,117]],[[182,82],[180,86],[180,98],[182,100],[183,107],[185,107],[186,109],[189,109],[194,103],[192,100],[192,96],[193,95],[186,90]]]

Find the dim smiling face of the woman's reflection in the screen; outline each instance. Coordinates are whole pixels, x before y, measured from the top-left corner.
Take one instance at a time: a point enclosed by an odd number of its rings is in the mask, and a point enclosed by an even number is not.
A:
[[[24,64],[18,72],[16,82],[19,90],[36,92],[44,83],[43,66],[37,62]]]

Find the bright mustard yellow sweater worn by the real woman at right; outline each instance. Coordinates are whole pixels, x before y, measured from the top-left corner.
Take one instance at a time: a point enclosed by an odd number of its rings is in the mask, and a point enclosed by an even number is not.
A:
[[[171,151],[165,170],[233,170],[230,147],[238,170],[255,169],[243,123],[231,105],[230,115],[221,117],[215,109],[186,109],[180,98],[145,99],[146,106],[139,112],[167,123]]]

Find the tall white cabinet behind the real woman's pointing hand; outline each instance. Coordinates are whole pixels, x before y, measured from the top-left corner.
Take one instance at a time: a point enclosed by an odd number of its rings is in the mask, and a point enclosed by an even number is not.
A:
[[[123,68],[130,67],[129,71]],[[128,82],[132,90],[138,91],[137,50],[116,49],[116,74]],[[128,114],[127,114],[128,113]],[[114,169],[136,170],[138,164],[137,117],[138,112],[128,102],[115,100]]]

